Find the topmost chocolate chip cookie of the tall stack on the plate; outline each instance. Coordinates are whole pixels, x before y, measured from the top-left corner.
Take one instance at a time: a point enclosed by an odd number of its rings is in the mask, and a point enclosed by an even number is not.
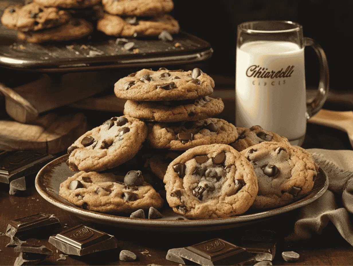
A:
[[[115,83],[118,98],[133,101],[176,101],[213,93],[215,82],[200,69],[192,71],[143,69]]]

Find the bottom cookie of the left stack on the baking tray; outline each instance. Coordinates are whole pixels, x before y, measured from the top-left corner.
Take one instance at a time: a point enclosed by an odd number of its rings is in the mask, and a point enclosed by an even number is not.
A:
[[[18,32],[18,39],[41,43],[48,41],[69,41],[80,39],[93,31],[91,23],[84,19],[71,19],[67,24],[43,31]]]

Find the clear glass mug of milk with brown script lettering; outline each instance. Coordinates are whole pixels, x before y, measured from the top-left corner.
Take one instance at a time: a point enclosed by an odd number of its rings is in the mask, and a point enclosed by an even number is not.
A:
[[[320,61],[316,97],[306,102],[304,48],[311,46]],[[285,136],[301,145],[306,120],[323,106],[329,90],[326,55],[303,27],[291,21],[251,21],[238,25],[235,124]]]

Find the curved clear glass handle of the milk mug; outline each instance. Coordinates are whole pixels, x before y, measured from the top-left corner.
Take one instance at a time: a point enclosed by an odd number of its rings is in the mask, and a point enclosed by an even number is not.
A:
[[[329,66],[322,47],[313,39],[304,37],[304,45],[311,46],[317,54],[320,63],[320,79],[317,94],[310,102],[306,102],[306,118],[317,114],[324,105],[329,92]]]

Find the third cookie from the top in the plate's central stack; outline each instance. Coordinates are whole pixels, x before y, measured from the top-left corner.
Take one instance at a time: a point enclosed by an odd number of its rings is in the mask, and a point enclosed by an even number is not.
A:
[[[207,118],[185,123],[150,125],[147,137],[156,149],[187,150],[206,144],[229,144],[237,137],[237,129],[226,120]]]

